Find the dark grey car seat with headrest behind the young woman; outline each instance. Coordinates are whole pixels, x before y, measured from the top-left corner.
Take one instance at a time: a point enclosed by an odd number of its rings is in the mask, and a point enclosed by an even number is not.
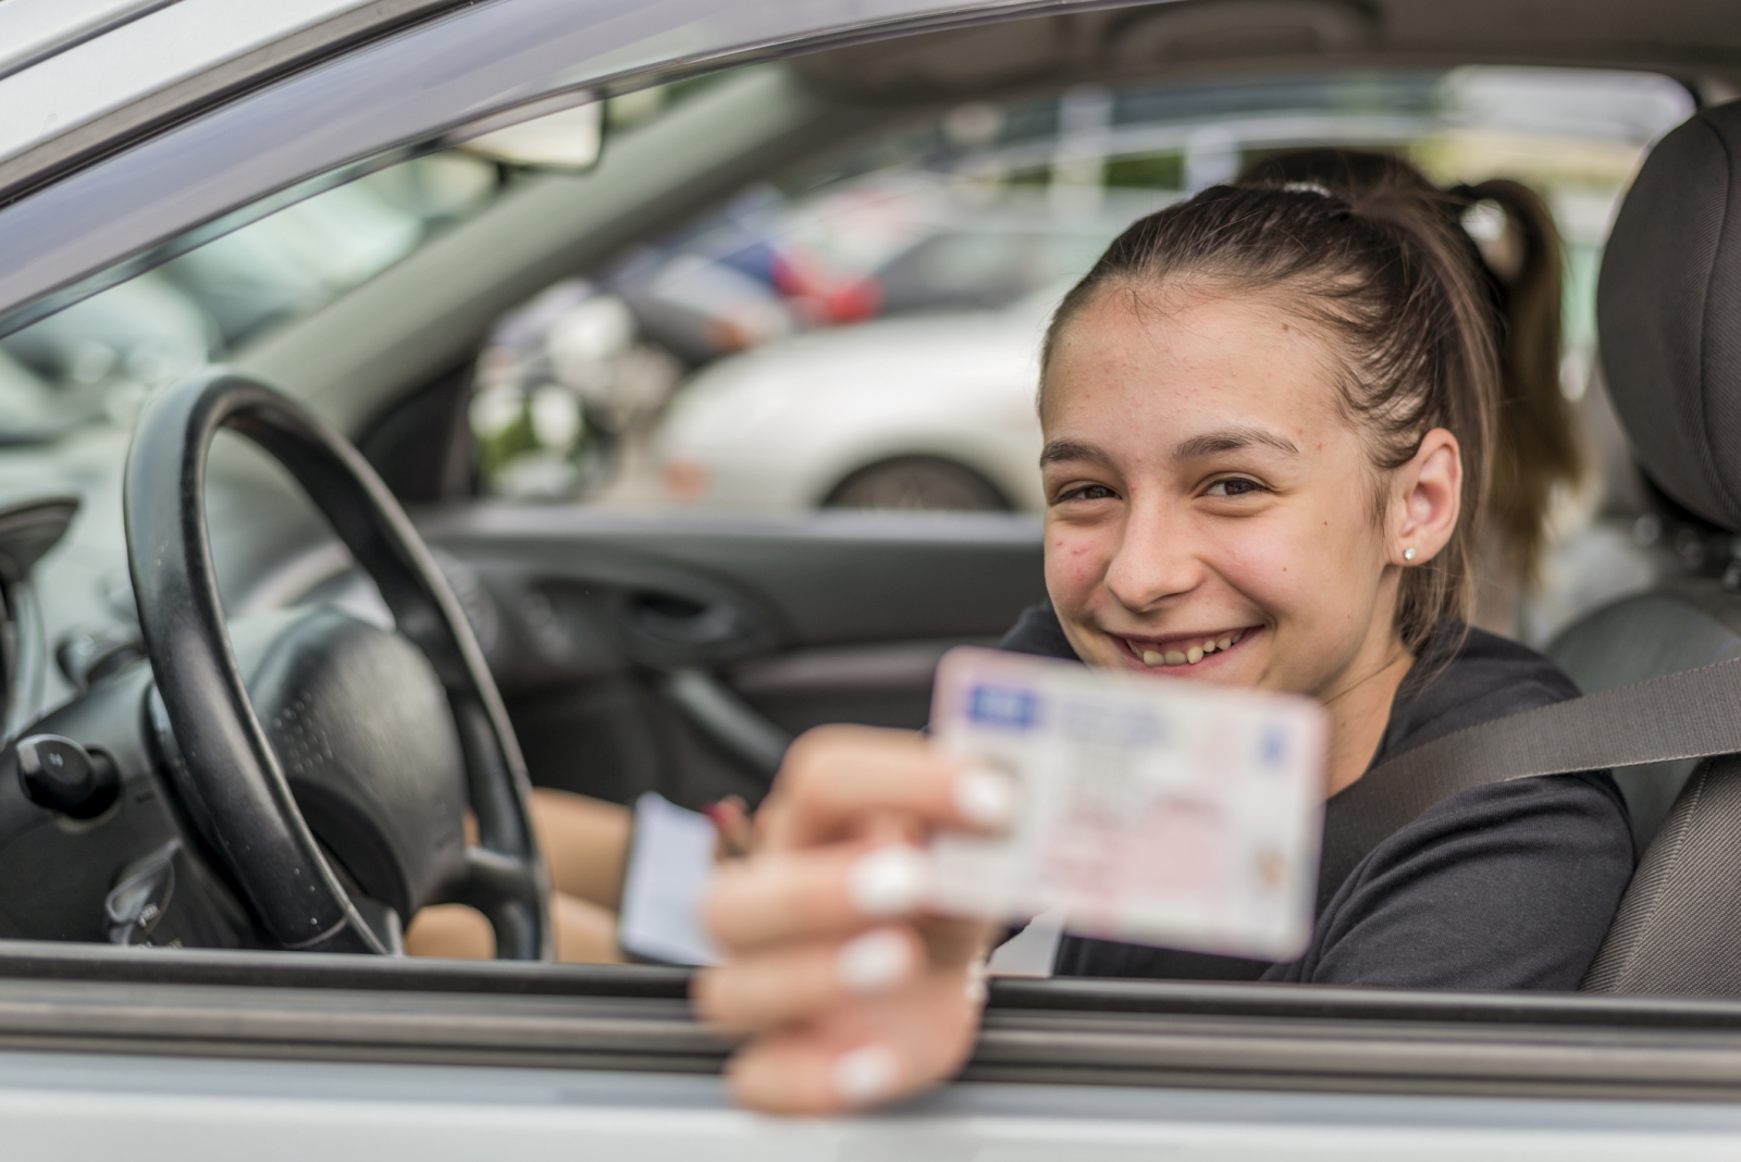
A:
[[[1741,103],[1696,113],[1650,151],[1609,237],[1596,320],[1640,468],[1741,531]],[[1588,614],[1548,652],[1586,694],[1738,658],[1741,591],[1675,579]],[[1616,779],[1644,858],[1584,988],[1741,995],[1741,757]]]

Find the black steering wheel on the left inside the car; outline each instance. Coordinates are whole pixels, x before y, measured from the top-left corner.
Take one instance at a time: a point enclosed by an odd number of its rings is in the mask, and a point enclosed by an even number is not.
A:
[[[205,525],[219,428],[308,492],[397,631],[331,609],[291,612],[240,651],[252,659],[244,675]],[[428,548],[357,449],[272,388],[214,371],[141,414],[124,513],[160,750],[270,939],[385,953],[395,941],[383,905],[409,920],[425,903],[460,901],[491,920],[498,957],[552,960],[531,785],[501,694]],[[475,845],[463,837],[467,802]]]

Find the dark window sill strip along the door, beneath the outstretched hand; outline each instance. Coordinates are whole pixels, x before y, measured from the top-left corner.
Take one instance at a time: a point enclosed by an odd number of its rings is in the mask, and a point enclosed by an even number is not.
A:
[[[653,965],[0,941],[0,1052],[712,1075],[733,1038],[695,1021],[688,981]],[[1736,1103],[1741,1002],[992,979],[961,1080]]]

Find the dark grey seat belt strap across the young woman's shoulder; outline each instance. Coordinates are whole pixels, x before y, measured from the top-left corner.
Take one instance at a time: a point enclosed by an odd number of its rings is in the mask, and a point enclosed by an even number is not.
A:
[[[1452,731],[1325,804],[1318,913],[1374,847],[1459,791],[1732,753],[1741,753],[1741,658]]]

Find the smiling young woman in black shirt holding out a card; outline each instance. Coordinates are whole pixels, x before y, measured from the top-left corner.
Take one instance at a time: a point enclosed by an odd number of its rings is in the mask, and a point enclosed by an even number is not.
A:
[[[1006,649],[1292,691],[1330,711],[1325,795],[1431,738],[1576,694],[1471,631],[1499,325],[1464,202],[1398,167],[1217,186],[1139,221],[1041,358],[1046,590]],[[918,908],[935,828],[998,830],[999,776],[864,727],[801,738],[728,866],[698,974],[749,1033],[736,1094],[830,1112],[971,1047],[1001,927]],[[1576,988],[1633,870],[1607,774],[1476,788],[1372,851],[1290,964],[1067,939],[1064,974]]]

